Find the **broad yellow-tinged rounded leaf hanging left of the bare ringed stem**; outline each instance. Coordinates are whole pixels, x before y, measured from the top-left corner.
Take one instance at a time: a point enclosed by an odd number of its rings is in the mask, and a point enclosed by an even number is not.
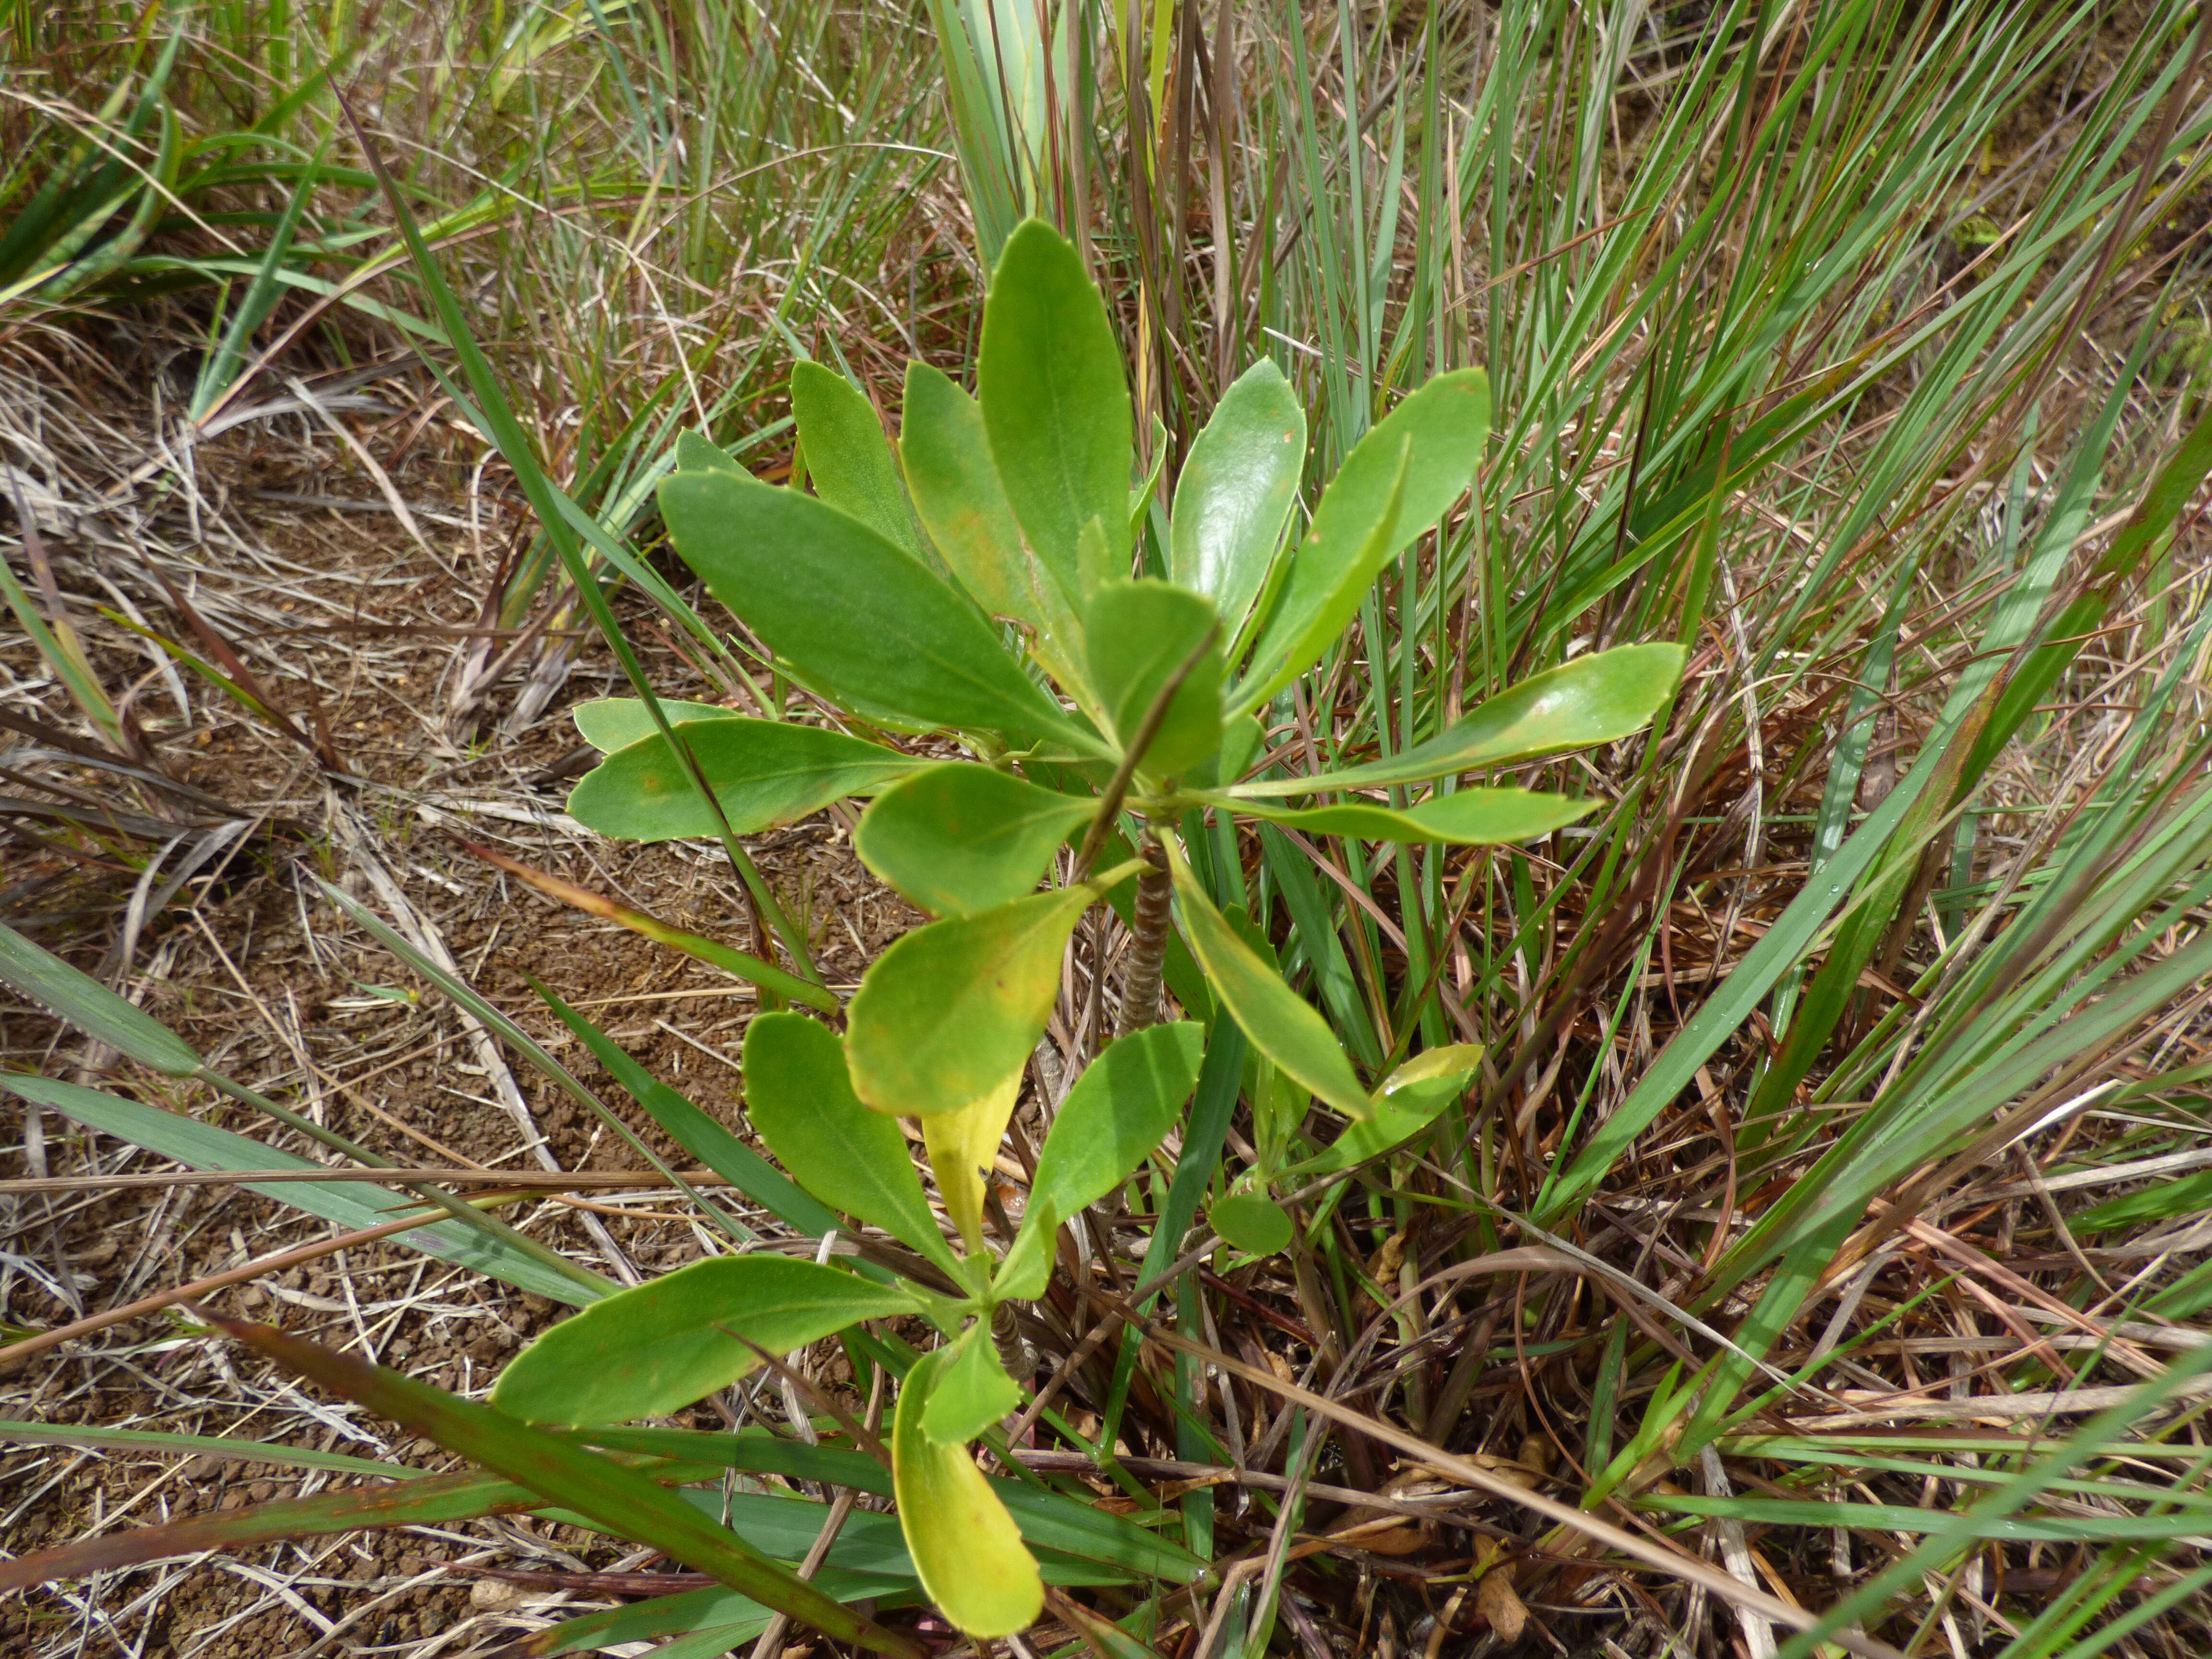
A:
[[[1064,887],[918,927],[849,1006],[854,1093],[878,1113],[953,1113],[1020,1073],[1060,995],[1060,958],[1097,894]]]

